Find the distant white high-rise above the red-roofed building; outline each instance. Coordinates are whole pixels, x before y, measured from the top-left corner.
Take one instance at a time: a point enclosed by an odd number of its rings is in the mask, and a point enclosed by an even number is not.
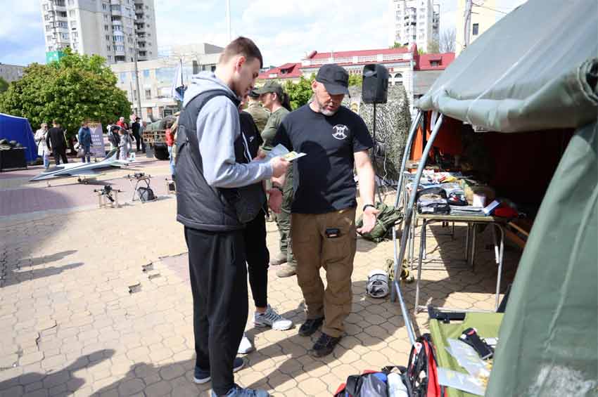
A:
[[[428,51],[430,41],[438,41],[440,5],[432,0],[388,0],[389,44],[416,44]]]

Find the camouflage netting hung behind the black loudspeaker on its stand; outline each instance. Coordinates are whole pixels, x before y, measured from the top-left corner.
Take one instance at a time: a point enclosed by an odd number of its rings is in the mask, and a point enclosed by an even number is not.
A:
[[[374,105],[361,99],[361,87],[349,88],[351,98],[345,97],[343,105],[357,110],[370,133],[374,132]],[[388,87],[388,102],[376,104],[376,153],[373,157],[374,171],[386,181],[397,181],[407,134],[411,126],[409,100],[403,86]]]

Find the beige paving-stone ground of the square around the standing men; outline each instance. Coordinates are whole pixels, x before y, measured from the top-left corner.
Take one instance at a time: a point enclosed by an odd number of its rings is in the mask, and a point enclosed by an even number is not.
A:
[[[166,167],[146,164],[152,174],[166,174]],[[75,194],[76,187],[63,194]],[[192,382],[193,308],[174,197],[120,209],[75,209],[0,218],[0,397],[208,396],[209,383]],[[276,254],[276,226],[267,226]],[[462,259],[464,230],[457,226],[453,240],[448,228],[431,226],[428,256],[445,263]],[[490,239],[488,229],[478,240],[475,273],[454,266],[424,271],[423,301],[494,308]],[[296,326],[265,330],[249,320],[256,351],[246,355],[236,382],[273,396],[331,396],[348,375],[405,365],[409,339],[398,304],[364,292],[367,273],[383,268],[392,254],[392,242],[358,239],[347,335],[326,358],[307,354],[317,334],[297,334],[305,315],[296,278],[276,278],[270,268],[269,303]],[[512,280],[519,256],[506,250],[503,285]],[[414,285],[403,292],[412,310]],[[419,332],[426,331],[426,317],[414,318]]]

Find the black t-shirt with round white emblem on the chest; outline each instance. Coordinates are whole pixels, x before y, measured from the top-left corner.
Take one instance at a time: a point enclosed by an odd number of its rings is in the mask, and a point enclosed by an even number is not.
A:
[[[374,145],[359,115],[341,106],[336,114],[324,116],[304,105],[279,126],[273,145],[279,143],[307,154],[293,161],[291,212],[324,214],[357,205],[353,153]]]

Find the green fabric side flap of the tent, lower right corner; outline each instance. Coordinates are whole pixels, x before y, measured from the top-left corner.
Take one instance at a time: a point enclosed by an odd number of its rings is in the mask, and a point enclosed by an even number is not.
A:
[[[571,138],[509,296],[486,396],[598,394],[598,124]]]

